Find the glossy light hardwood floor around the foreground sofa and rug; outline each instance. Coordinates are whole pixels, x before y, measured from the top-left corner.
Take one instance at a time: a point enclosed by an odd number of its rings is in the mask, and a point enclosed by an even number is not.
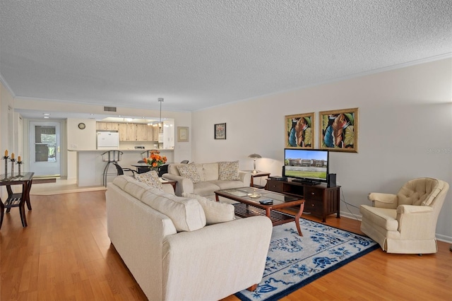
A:
[[[109,242],[105,191],[32,195],[31,203],[27,228],[13,208],[0,230],[1,300],[146,300]],[[327,224],[359,232],[357,220]],[[283,300],[452,300],[452,252],[444,242],[424,256],[378,249]]]

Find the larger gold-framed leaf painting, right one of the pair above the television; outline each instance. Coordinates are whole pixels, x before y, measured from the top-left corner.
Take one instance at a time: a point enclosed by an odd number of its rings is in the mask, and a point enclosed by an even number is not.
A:
[[[359,109],[319,112],[320,148],[329,151],[358,152]]]

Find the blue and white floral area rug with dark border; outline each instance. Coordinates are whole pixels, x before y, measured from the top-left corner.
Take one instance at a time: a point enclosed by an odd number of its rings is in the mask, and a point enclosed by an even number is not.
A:
[[[294,223],[273,227],[263,279],[254,292],[235,294],[240,300],[278,300],[379,247],[362,235],[303,218],[299,223],[303,236]]]

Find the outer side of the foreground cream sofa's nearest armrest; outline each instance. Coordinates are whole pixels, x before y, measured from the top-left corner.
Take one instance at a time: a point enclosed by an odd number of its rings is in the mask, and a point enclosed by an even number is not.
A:
[[[260,283],[272,229],[255,216],[165,237],[165,300],[220,300]]]

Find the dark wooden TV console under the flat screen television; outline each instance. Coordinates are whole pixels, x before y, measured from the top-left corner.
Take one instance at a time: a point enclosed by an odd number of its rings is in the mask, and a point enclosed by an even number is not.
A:
[[[319,216],[326,222],[326,216],[336,213],[340,218],[340,186],[327,187],[325,183],[312,185],[293,182],[292,179],[268,179],[267,190],[302,196],[304,198],[304,212],[312,216]]]

